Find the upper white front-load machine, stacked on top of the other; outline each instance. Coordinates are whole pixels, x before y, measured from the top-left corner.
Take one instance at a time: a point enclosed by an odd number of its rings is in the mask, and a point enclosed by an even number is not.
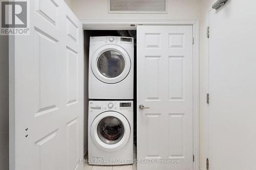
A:
[[[134,39],[91,37],[89,99],[133,99]]]

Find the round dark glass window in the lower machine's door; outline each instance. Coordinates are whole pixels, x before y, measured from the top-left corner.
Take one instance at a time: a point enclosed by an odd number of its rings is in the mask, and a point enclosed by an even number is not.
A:
[[[118,118],[114,116],[104,117],[97,126],[98,137],[106,144],[119,142],[124,134],[124,127]]]

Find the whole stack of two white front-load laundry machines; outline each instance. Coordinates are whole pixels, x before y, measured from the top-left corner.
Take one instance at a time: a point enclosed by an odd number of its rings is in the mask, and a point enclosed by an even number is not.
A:
[[[134,39],[91,37],[89,164],[133,163]]]

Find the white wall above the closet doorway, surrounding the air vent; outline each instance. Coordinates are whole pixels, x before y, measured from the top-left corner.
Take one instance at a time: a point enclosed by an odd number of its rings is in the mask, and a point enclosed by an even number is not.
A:
[[[79,19],[199,19],[201,0],[168,0],[168,14],[108,14],[107,0],[72,0]]]

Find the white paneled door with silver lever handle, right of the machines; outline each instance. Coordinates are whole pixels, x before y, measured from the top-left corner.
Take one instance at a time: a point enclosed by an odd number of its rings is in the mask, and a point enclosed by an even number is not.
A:
[[[193,169],[192,26],[137,27],[137,107],[138,170]]]

